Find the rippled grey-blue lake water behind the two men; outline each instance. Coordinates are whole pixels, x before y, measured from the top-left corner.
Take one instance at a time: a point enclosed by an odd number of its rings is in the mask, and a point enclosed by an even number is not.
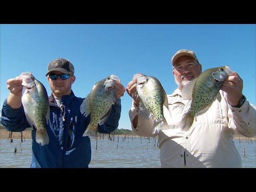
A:
[[[89,168],[160,168],[158,138],[117,137],[91,140]],[[242,168],[256,168],[256,141],[234,139],[242,159]],[[96,149],[97,144],[97,149]],[[16,153],[14,153],[14,149]],[[245,148],[245,156],[244,156]],[[30,168],[32,139],[0,139],[0,168]]]

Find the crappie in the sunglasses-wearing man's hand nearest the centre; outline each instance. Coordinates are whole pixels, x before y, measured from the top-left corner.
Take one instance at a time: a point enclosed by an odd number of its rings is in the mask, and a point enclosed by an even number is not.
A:
[[[98,124],[102,125],[106,122],[113,102],[117,102],[115,96],[116,82],[120,83],[120,80],[114,74],[96,82],[82,102],[80,112],[86,117],[91,113],[90,123],[83,136],[89,136],[89,138],[98,136]]]

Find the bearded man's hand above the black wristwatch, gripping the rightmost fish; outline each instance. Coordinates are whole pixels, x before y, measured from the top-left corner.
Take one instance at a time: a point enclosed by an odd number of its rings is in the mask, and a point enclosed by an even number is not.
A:
[[[226,78],[226,80],[224,80],[221,90],[226,92],[228,103],[231,106],[236,106],[242,98],[243,80],[237,72],[233,72]]]

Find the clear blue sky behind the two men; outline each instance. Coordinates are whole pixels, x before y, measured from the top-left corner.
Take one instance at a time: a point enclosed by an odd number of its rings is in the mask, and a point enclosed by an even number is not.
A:
[[[243,94],[256,104],[255,24],[1,24],[0,107],[9,95],[6,81],[30,71],[51,90],[45,76],[55,58],[75,67],[74,94],[86,97],[92,86],[116,74],[126,88],[133,75],[155,76],[167,94],[177,85],[172,56],[180,49],[196,53],[203,71],[229,65],[243,79]],[[119,129],[130,129],[132,98],[125,92]]]

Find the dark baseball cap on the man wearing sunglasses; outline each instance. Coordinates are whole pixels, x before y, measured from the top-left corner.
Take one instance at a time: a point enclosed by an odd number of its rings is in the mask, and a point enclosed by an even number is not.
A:
[[[47,76],[52,71],[59,71],[62,73],[69,73],[70,71],[72,71],[73,74],[75,73],[73,64],[65,58],[56,58],[52,60],[48,64],[48,72],[45,76]]]

